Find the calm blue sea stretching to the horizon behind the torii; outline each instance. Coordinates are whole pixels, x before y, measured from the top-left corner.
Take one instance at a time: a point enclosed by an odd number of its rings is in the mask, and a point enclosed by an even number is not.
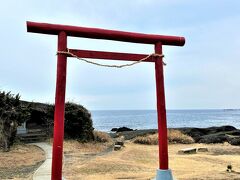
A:
[[[155,110],[92,111],[94,128],[110,131],[113,127],[156,129]],[[210,127],[232,125],[240,128],[240,110],[168,110],[168,127]]]

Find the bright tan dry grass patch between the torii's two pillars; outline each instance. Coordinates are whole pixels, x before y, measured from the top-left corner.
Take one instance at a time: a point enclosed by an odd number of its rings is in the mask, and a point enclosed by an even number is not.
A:
[[[128,149],[131,147],[131,149]],[[75,161],[65,166],[66,179],[150,179],[157,164],[151,167],[149,157],[155,153],[145,151],[141,145],[126,142],[121,151],[113,151],[90,158],[84,163]],[[148,146],[153,147],[153,146]],[[155,161],[157,158],[151,158]],[[146,163],[147,160],[147,163]]]

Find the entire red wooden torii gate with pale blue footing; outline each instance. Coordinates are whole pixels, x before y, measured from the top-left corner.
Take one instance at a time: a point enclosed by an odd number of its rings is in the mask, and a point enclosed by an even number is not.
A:
[[[155,53],[162,54],[163,45],[183,46],[184,37],[163,36],[153,34],[141,34],[133,32],[106,30],[98,28],[86,28],[48,23],[27,22],[27,31],[33,33],[51,34],[58,36],[58,51],[67,50],[67,36],[85,37],[93,39],[107,39],[115,41],[154,44]],[[68,49],[69,52],[81,58],[94,58],[106,60],[138,61],[146,58],[146,54],[129,54],[117,52],[89,51]],[[67,75],[67,56],[59,53],[57,56],[57,82],[54,112],[54,140],[52,159],[52,180],[62,179],[62,153],[64,137],[64,112],[65,112],[65,91]],[[158,135],[159,135],[159,169],[157,179],[172,179],[171,171],[168,169],[168,142],[167,122],[164,93],[163,61],[161,56],[150,56],[146,62],[155,63],[157,114],[158,114]]]

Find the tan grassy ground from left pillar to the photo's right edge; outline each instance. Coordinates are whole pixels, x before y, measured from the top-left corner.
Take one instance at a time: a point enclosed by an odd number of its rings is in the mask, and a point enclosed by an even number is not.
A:
[[[209,152],[180,155],[178,150],[187,147],[207,147]],[[158,167],[158,146],[136,145],[127,142],[120,151],[101,155],[91,153],[94,146],[84,152],[80,149],[65,152],[64,177],[80,179],[152,179]],[[96,153],[96,152],[95,152]],[[169,145],[170,167],[175,178],[240,179],[240,147],[229,144],[173,144]],[[226,172],[231,164],[235,172]]]

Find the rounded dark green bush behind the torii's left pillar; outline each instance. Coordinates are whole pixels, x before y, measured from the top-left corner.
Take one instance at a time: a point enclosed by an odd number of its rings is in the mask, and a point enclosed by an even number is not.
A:
[[[53,135],[54,105],[23,102],[30,111],[30,121],[44,125],[49,137]],[[82,105],[65,103],[64,137],[80,142],[94,140],[91,113]]]

